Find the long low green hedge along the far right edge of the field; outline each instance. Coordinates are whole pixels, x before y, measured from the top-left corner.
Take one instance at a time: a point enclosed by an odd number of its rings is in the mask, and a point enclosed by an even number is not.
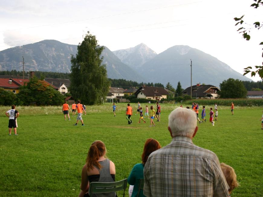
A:
[[[252,98],[236,98],[236,99],[192,99],[183,102],[192,106],[192,102],[197,102],[198,105],[225,105],[230,106],[231,102],[234,102],[235,106],[263,106],[263,99],[252,99]]]

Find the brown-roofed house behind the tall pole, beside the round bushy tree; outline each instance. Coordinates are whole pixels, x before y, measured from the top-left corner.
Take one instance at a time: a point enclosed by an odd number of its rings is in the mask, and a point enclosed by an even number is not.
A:
[[[200,85],[197,83],[196,85],[192,86],[192,97],[196,98],[217,98],[218,91],[220,89],[213,85]],[[183,95],[191,95],[191,86],[187,89],[183,90]]]

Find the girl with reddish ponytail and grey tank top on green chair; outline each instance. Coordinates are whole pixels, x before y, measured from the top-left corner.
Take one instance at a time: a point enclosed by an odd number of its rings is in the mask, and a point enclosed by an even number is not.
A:
[[[81,174],[79,197],[89,197],[90,182],[114,182],[115,165],[106,157],[106,147],[102,141],[96,140],[89,147],[86,164]],[[93,194],[92,197],[115,197],[116,193]]]

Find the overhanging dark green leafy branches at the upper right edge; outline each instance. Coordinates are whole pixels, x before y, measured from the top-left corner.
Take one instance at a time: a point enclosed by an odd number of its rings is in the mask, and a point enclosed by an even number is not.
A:
[[[262,0],[253,0],[255,3],[251,4],[250,6],[253,7],[253,8],[258,8],[259,6],[262,6],[263,5],[263,2]],[[239,29],[237,30],[239,32],[239,34],[242,34],[242,37],[246,40],[250,40],[251,36],[250,36],[250,31],[252,29],[260,29],[263,27],[263,22],[260,24],[260,22],[254,22],[252,25],[251,24],[247,24],[245,23],[245,21],[243,20],[243,17],[245,15],[241,16],[240,18],[237,18],[235,17],[234,20],[235,21],[238,21],[235,26],[237,25],[242,25],[242,27],[239,27]],[[247,28],[247,27],[244,27],[243,25],[250,25],[250,26],[253,26],[251,28]],[[263,42],[259,43],[259,45],[263,45]],[[263,48],[262,48],[263,50]],[[263,57],[263,52],[262,52],[262,57]],[[262,65],[263,65],[263,62],[262,62]],[[261,77],[261,79],[263,78],[263,66],[255,66],[255,68],[257,70],[255,71],[252,71],[252,67],[251,66],[248,66],[247,68],[244,68],[244,74],[243,75],[246,75],[248,73],[251,72],[251,76],[255,76],[256,73],[258,73],[258,75]]]

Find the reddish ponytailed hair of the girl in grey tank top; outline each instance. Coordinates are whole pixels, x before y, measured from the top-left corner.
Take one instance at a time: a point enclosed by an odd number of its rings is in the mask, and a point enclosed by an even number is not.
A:
[[[99,157],[102,157],[105,154],[106,154],[105,144],[100,140],[96,140],[95,142],[93,142],[89,147],[89,152],[86,159],[87,170],[93,169],[94,166],[101,169],[102,166],[99,164],[98,160]]]

